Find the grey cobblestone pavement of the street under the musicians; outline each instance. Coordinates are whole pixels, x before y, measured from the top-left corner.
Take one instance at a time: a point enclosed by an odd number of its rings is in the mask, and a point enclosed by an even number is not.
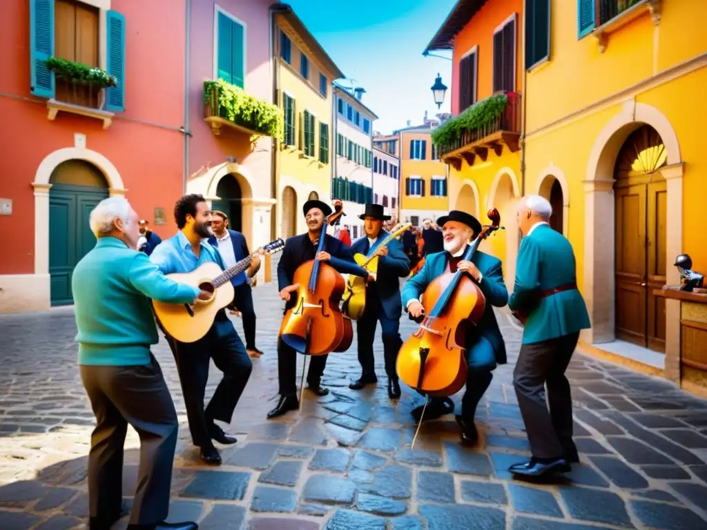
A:
[[[274,284],[256,288],[255,305],[266,355],[255,360],[235,411],[230,431],[238,444],[222,449],[223,466],[199,464],[173,359],[164,341],[154,348],[182,422],[170,520],[224,530],[707,528],[707,402],[668,382],[575,355],[568,374],[581,464],[563,482],[522,483],[506,471],[529,454],[511,384],[520,331],[508,314],[498,317],[510,364],[496,370],[479,406],[481,447],[462,449],[447,416],[423,424],[411,450],[409,411],[421,398],[404,388],[397,407],[389,401],[380,338],[378,388],[348,388],[358,375],[354,344],[329,357],[329,396],[305,392],[299,412],[267,421],[281,316]],[[235,325],[240,332],[240,320]],[[404,319],[404,337],[412,329]],[[93,415],[78,379],[74,334],[71,308],[0,317],[1,529],[69,529],[88,514]],[[130,430],[126,502],[138,445]]]

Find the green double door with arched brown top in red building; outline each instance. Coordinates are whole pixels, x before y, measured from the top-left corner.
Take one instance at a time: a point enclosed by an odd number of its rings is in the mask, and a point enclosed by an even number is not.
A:
[[[107,199],[102,172],[84,160],[66,160],[49,177],[49,278],[52,305],[74,303],[71,276],[78,261],[95,246],[88,217]]]

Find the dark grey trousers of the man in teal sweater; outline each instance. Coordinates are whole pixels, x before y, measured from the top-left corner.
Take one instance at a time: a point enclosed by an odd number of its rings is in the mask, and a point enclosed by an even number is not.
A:
[[[91,519],[118,517],[122,502],[123,446],[128,423],[140,436],[137,490],[131,524],[162,522],[169,512],[177,412],[157,360],[142,366],[81,365],[96,426],[88,454]]]

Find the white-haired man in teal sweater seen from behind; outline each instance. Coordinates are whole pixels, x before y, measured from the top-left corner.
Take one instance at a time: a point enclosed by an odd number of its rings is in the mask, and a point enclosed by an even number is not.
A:
[[[123,197],[101,201],[90,214],[98,238],[71,278],[78,364],[96,426],[88,454],[90,530],[121,516],[123,445],[128,424],[140,436],[140,466],[129,530],[197,529],[165,523],[177,443],[177,413],[160,365],[150,299],[192,303],[207,293],[166,278],[135,250],[138,217]]]

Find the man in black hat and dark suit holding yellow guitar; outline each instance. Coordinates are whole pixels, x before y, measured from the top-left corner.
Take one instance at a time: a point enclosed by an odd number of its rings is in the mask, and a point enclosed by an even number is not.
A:
[[[385,373],[388,376],[388,396],[400,397],[395,362],[402,346],[398,332],[402,303],[400,302],[400,283],[410,273],[410,260],[405,255],[402,244],[394,239],[387,245],[381,245],[389,233],[382,229],[383,221],[390,216],[383,214],[380,204],[366,204],[366,211],[358,216],[365,224],[366,237],[361,237],[351,245],[351,252],[368,257],[378,256],[378,281],[366,287],[366,309],[363,317],[356,324],[358,336],[358,363],[361,363],[361,377],[349,384],[349,388],[359,390],[366,384],[378,382],[373,367],[373,338],[375,326],[380,321],[383,338],[383,358]]]

